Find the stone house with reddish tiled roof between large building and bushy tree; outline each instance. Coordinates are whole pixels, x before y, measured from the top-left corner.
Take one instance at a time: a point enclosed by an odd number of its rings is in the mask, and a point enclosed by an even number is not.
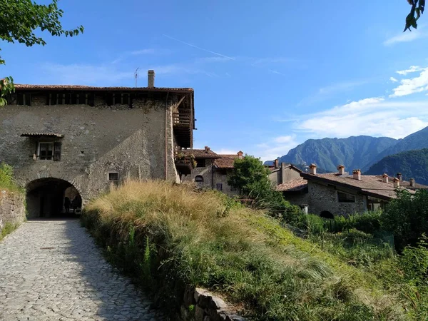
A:
[[[220,190],[230,196],[238,195],[239,191],[228,184],[228,175],[233,170],[235,159],[244,157],[242,151],[232,155],[217,154],[205,146],[204,149],[185,150],[183,153],[193,155],[196,161],[196,167],[190,175],[183,176],[183,182],[195,182],[201,188]]]

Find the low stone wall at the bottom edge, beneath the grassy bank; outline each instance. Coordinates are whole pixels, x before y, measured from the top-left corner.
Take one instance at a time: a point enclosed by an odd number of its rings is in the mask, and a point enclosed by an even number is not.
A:
[[[189,309],[189,307],[193,307]],[[220,297],[204,289],[187,287],[181,306],[181,319],[188,321],[245,321]]]

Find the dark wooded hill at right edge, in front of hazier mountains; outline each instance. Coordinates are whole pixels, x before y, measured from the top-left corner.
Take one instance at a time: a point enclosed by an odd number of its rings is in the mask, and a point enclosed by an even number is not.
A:
[[[402,173],[405,180],[414,178],[417,183],[428,185],[428,148],[387,156],[367,170],[368,175],[383,173],[390,176]]]

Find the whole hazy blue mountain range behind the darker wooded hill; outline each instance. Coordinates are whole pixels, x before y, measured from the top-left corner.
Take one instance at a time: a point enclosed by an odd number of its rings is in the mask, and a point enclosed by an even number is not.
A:
[[[398,140],[372,136],[309,139],[281,156],[279,161],[295,165],[315,163],[327,172],[335,172],[337,165],[342,164],[347,171],[360,168],[366,172],[386,156],[422,148],[428,148],[428,127]],[[381,172],[384,171],[377,174]]]

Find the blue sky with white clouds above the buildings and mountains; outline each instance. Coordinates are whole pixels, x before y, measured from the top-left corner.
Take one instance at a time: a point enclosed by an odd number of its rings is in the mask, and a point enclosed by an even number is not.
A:
[[[407,1],[62,0],[72,39],[0,44],[16,83],[195,89],[195,148],[282,156],[308,138],[428,126],[428,16]]]

